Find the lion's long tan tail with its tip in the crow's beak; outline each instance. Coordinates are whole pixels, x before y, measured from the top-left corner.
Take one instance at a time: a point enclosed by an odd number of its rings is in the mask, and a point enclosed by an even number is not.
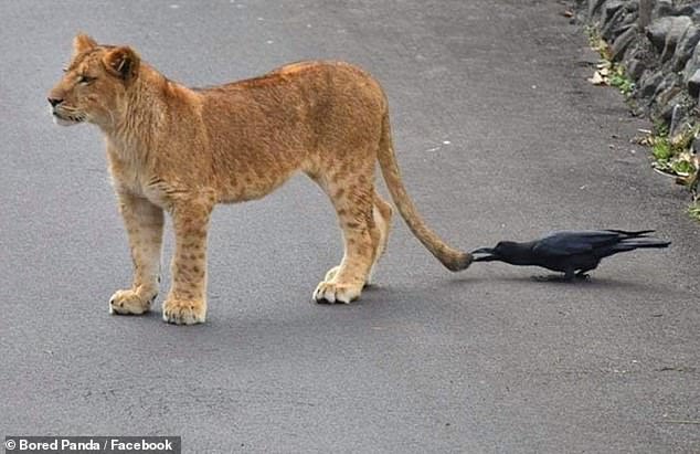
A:
[[[384,176],[384,181],[386,182],[391,198],[396,204],[401,217],[406,221],[406,224],[409,224],[411,232],[413,232],[415,237],[417,237],[447,270],[466,270],[474,260],[471,254],[457,251],[441,240],[439,236],[428,229],[418,214],[413,201],[411,201],[406,188],[404,188],[403,181],[401,180],[399,165],[396,163],[388,113],[385,113],[382,118],[382,136],[378,155],[382,175]]]

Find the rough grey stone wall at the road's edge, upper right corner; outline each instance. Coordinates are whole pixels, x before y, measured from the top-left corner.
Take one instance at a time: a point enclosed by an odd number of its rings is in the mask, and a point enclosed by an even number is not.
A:
[[[612,60],[634,80],[637,114],[674,129],[697,123],[700,0],[575,0],[576,20],[593,24]]]

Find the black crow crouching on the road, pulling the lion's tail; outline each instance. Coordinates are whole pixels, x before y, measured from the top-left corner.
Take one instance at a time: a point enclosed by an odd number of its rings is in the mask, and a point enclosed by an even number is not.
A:
[[[639,247],[668,247],[670,241],[647,236],[653,230],[569,230],[547,234],[540,240],[517,243],[501,241],[496,247],[471,252],[475,262],[506,262],[511,265],[534,265],[564,273],[564,281],[586,278],[601,260],[618,252]],[[486,254],[486,255],[479,255]]]

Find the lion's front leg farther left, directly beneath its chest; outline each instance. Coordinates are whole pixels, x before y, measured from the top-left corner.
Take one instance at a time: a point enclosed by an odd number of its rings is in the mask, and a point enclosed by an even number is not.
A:
[[[131,288],[109,299],[110,314],[144,314],[158,295],[163,212],[148,200],[120,193],[119,211],[129,236],[134,279]]]

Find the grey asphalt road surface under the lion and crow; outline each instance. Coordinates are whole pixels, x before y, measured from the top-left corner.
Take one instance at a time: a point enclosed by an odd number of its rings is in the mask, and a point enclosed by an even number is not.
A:
[[[648,125],[585,81],[595,55],[563,9],[0,2],[0,436],[177,434],[188,453],[700,452],[700,229],[629,144]],[[130,260],[103,142],[54,126],[45,102],[79,30],[191,85],[304,59],[362,65],[388,92],[416,204],[465,249],[562,228],[651,228],[674,244],[607,260],[588,283],[539,283],[502,264],[450,274],[397,221],[378,285],[317,306],[339,232],[299,177],[215,212],[205,325],[162,323],[162,297],[148,316],[109,316]]]

